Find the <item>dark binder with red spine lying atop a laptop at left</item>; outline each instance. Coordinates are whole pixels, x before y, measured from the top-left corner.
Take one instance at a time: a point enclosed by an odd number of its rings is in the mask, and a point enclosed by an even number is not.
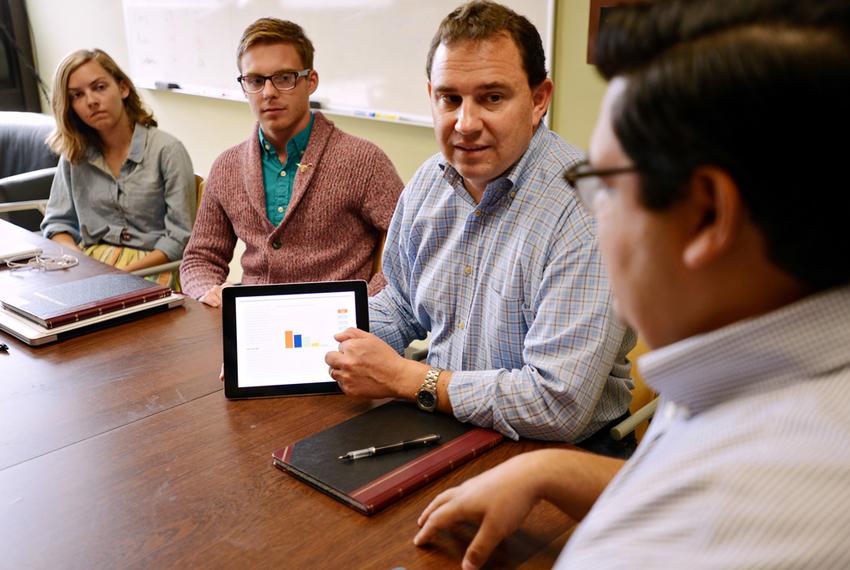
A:
[[[171,289],[132,273],[108,273],[69,281],[40,291],[4,296],[0,301],[44,328],[52,329],[162,299]]]

